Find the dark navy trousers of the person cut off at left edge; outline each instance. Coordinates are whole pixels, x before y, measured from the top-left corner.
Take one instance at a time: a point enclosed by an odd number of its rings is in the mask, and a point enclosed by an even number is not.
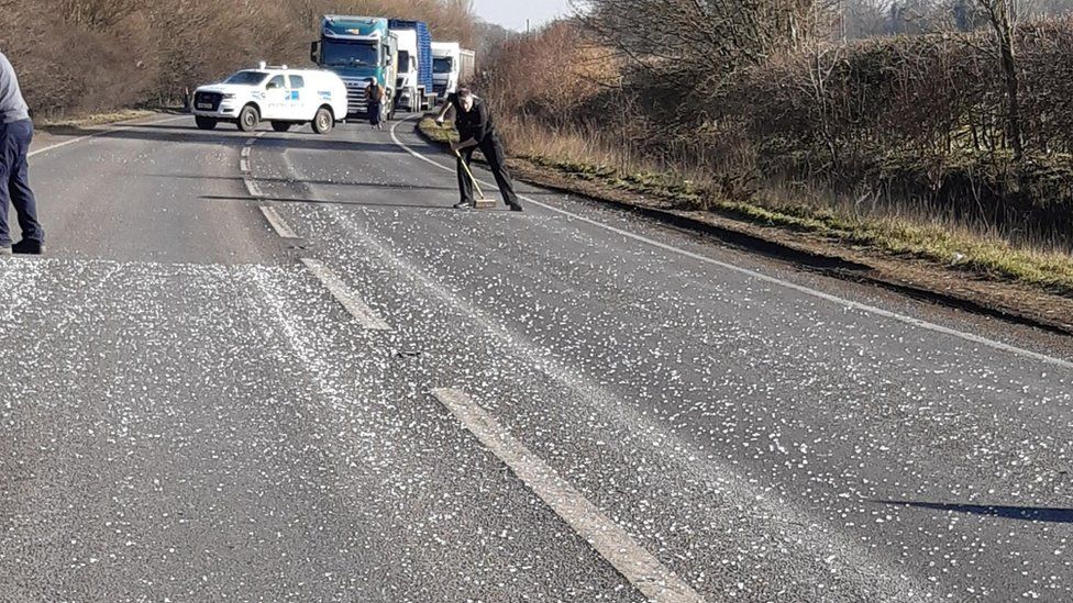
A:
[[[0,124],[0,247],[11,246],[8,228],[8,205],[19,215],[22,238],[45,242],[45,231],[37,222],[37,201],[30,190],[30,141],[33,122],[22,120]]]

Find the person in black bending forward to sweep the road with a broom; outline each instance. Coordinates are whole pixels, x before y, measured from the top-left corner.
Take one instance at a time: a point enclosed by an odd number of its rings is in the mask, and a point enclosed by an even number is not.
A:
[[[522,211],[518,196],[515,193],[515,183],[507,174],[506,155],[502,149],[502,142],[496,133],[496,125],[491,119],[488,105],[477,98],[468,88],[460,88],[457,92],[447,97],[443,108],[436,115],[436,123],[443,124],[447,113],[454,111],[455,129],[458,131],[460,142],[451,145],[451,150],[458,156],[458,191],[462,193],[462,201],[455,204],[457,209],[469,209],[476,205],[473,198],[473,181],[466,174],[463,161],[466,166],[473,163],[473,154],[479,148],[488,160],[496,183],[499,186],[499,193],[502,194],[504,202],[511,211]]]

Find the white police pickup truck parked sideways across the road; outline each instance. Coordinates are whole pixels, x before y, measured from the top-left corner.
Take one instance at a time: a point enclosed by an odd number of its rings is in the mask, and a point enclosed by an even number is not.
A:
[[[346,118],[346,85],[331,71],[262,63],[257,69],[198,88],[191,112],[201,130],[230,122],[243,132],[253,132],[262,121],[268,121],[276,132],[309,123],[313,132],[325,134]]]

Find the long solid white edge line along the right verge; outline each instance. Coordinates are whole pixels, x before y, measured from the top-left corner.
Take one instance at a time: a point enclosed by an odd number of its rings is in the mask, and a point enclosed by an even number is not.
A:
[[[433,165],[433,166],[435,166],[435,167],[438,167],[438,168],[440,168],[440,169],[442,169],[444,171],[454,172],[455,169],[456,169],[454,166],[445,166],[445,165],[443,165],[443,164],[441,164],[441,163],[439,163],[439,161],[436,161],[434,159],[430,159],[429,157],[425,157],[424,155],[421,155],[420,153],[413,150],[412,148],[410,148],[409,146],[407,146],[406,143],[403,143],[402,141],[399,139],[396,130],[398,129],[398,126],[401,123],[407,122],[407,121],[410,121],[412,119],[414,119],[414,118],[407,118],[406,120],[396,122],[395,125],[391,126],[391,138],[395,141],[395,144],[398,145],[399,147],[401,147],[403,150],[406,150],[410,155],[412,155],[413,157],[416,157],[416,158],[418,158],[418,159],[420,159],[420,160],[422,160],[422,161],[424,161],[427,164]],[[489,182],[487,182],[485,180],[479,180],[478,179],[478,181],[480,183],[487,186],[487,187],[494,187],[495,186],[494,183],[489,183]],[[530,197],[526,197],[523,194],[519,194],[518,197],[520,199],[526,200],[529,203],[532,203],[532,204],[538,205],[540,208],[544,208],[545,210],[555,212],[555,213],[561,214],[561,215],[565,215],[567,217],[571,217],[573,220],[577,220],[577,221],[584,222],[586,224],[590,224],[593,226],[597,226],[599,228],[604,228],[605,231],[615,233],[617,235],[624,236],[627,238],[630,238],[630,239],[633,239],[633,241],[638,241],[638,242],[644,243],[646,245],[651,245],[652,247],[655,247],[657,249],[663,249],[665,252],[671,252],[673,254],[677,254],[677,255],[681,255],[683,257],[687,257],[689,259],[695,259],[697,261],[701,261],[701,263],[705,263],[705,264],[709,264],[711,266],[718,266],[720,268],[724,268],[727,270],[731,270],[733,272],[738,272],[740,275],[744,275],[744,276],[748,276],[748,277],[751,277],[751,278],[754,278],[754,279],[757,279],[757,280],[761,280],[761,281],[771,283],[771,284],[775,284],[775,286],[778,286],[778,287],[783,287],[785,289],[790,289],[793,291],[797,291],[798,293],[804,293],[806,295],[810,295],[810,297],[818,298],[818,299],[821,299],[821,300],[825,300],[825,301],[829,301],[829,302],[832,302],[832,303],[842,305],[844,308],[848,308],[850,310],[858,310],[858,311],[861,311],[861,312],[866,312],[866,313],[870,313],[870,314],[875,314],[876,316],[883,316],[885,319],[891,319],[893,321],[898,321],[898,322],[901,322],[901,323],[905,323],[905,324],[908,324],[908,325],[912,325],[912,326],[917,326],[917,327],[920,327],[920,328],[925,328],[925,330],[928,330],[928,331],[931,331],[931,332],[934,332],[934,333],[941,333],[943,335],[950,335],[952,337],[958,337],[958,338],[964,339],[966,342],[971,342],[971,343],[974,343],[974,344],[980,344],[982,346],[986,346],[986,347],[989,347],[989,348],[993,348],[993,349],[997,349],[997,350],[1000,350],[1000,351],[1006,351],[1006,353],[1009,353],[1009,354],[1014,354],[1016,356],[1021,356],[1024,358],[1030,358],[1032,360],[1039,360],[1039,361],[1044,362],[1044,364],[1048,364],[1048,365],[1052,365],[1052,366],[1062,367],[1062,368],[1065,368],[1065,369],[1073,370],[1073,360],[1066,360],[1066,359],[1063,359],[1063,358],[1055,358],[1053,356],[1048,356],[1046,354],[1040,354],[1038,351],[1032,351],[1032,350],[1024,349],[1024,348],[1020,348],[1020,347],[1017,347],[1017,346],[1011,346],[1009,344],[1004,344],[1002,342],[996,342],[996,340],[993,340],[993,339],[988,339],[986,337],[982,337],[980,335],[974,335],[972,333],[965,333],[965,332],[962,332],[962,331],[958,331],[955,328],[950,328],[950,327],[942,326],[942,325],[939,325],[939,324],[936,324],[936,323],[931,323],[931,322],[928,322],[928,321],[922,321],[920,319],[914,319],[912,316],[906,316],[904,314],[898,314],[897,312],[892,312],[889,310],[883,310],[882,308],[876,308],[874,305],[869,305],[866,303],[860,303],[860,302],[855,302],[855,301],[852,301],[852,300],[847,300],[847,299],[843,299],[843,298],[839,298],[838,295],[832,295],[830,293],[825,293],[822,291],[817,291],[816,289],[811,289],[811,288],[805,287],[803,284],[797,284],[795,282],[790,282],[790,281],[787,281],[787,280],[783,280],[783,279],[779,279],[779,278],[771,277],[771,276],[767,276],[767,275],[764,275],[764,273],[761,273],[761,272],[756,272],[755,270],[750,270],[748,268],[742,268],[740,266],[734,266],[733,264],[727,264],[726,261],[719,261],[718,259],[712,259],[710,257],[703,256],[700,254],[695,254],[693,252],[687,252],[685,249],[679,249],[679,248],[674,247],[672,245],[667,245],[665,243],[660,243],[659,241],[651,239],[651,238],[649,238],[646,236],[642,236],[642,235],[634,234],[634,233],[631,233],[631,232],[628,232],[628,231],[623,231],[621,228],[616,228],[615,226],[611,226],[611,225],[608,225],[608,224],[604,224],[601,222],[597,222],[596,220],[591,220],[589,217],[585,217],[583,215],[578,215],[576,213],[573,213],[573,212],[569,212],[569,211],[566,211],[566,210],[563,210],[563,209],[560,209],[560,208],[556,208],[556,206],[553,206],[553,205],[549,205],[546,203],[541,203],[540,201],[536,201],[535,199],[532,199]]]

